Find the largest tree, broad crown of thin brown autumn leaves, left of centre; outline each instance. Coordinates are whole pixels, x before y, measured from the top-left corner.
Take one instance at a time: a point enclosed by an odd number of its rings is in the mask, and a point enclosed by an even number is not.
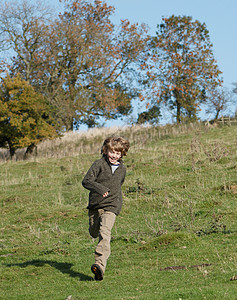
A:
[[[37,11],[27,15],[27,9],[23,14],[18,7],[14,15],[22,21],[15,31],[2,22],[8,37],[26,36],[22,47],[11,43],[17,52],[12,74],[20,72],[47,97],[55,108],[55,119],[66,130],[82,123],[97,124],[100,117],[127,115],[131,100],[142,94],[137,83],[138,70],[146,62],[146,27],[127,20],[116,27],[110,20],[114,8],[102,1],[64,0],[64,4],[64,11],[51,21],[43,22],[43,15],[35,22]],[[1,18],[7,20],[9,14],[5,9]],[[35,32],[37,39],[33,39]],[[27,61],[34,67],[27,67],[22,53],[27,53]]]

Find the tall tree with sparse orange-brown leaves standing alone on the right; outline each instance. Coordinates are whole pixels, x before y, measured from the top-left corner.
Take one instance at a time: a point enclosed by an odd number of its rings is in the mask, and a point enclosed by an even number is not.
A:
[[[175,110],[176,121],[197,118],[205,91],[221,84],[221,72],[212,52],[205,23],[189,16],[163,18],[152,40],[152,63],[156,68],[158,102]]]

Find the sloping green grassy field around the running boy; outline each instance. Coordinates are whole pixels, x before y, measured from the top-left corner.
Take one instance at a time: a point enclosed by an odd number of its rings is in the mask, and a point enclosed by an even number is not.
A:
[[[81,181],[108,134],[0,162],[0,299],[236,299],[237,126],[122,132],[124,205],[97,282]]]

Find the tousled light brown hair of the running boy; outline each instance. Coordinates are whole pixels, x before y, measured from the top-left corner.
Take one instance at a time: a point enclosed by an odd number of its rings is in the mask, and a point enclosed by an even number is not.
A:
[[[122,137],[108,137],[101,148],[101,154],[107,154],[108,150],[121,152],[121,157],[127,155],[129,149],[129,141]]]

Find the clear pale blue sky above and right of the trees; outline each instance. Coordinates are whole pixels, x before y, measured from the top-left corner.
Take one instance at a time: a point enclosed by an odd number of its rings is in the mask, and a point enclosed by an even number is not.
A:
[[[51,1],[55,4],[57,0]],[[231,89],[232,83],[237,82],[237,0],[105,0],[105,2],[115,7],[112,18],[114,23],[119,24],[121,19],[128,19],[131,23],[145,23],[152,35],[155,34],[157,24],[161,23],[163,16],[186,15],[205,23],[213,44],[214,56],[223,72],[224,86]],[[232,110],[235,108],[236,105]]]

